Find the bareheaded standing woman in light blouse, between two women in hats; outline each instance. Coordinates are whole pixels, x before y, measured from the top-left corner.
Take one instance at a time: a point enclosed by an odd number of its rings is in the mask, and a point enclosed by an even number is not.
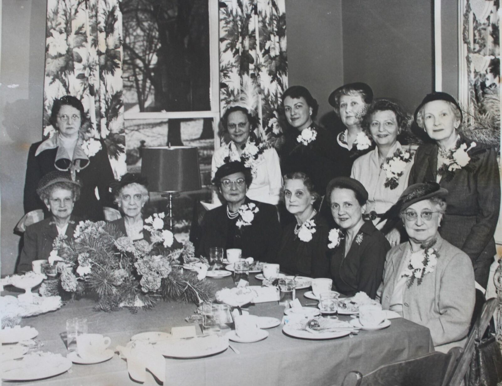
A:
[[[376,147],[354,161],[350,176],[368,191],[365,214],[379,230],[385,225],[385,221],[380,222],[382,215],[398,201],[408,186],[413,153],[403,149],[397,140],[407,121],[407,114],[401,106],[384,98],[375,100],[364,118],[364,127]],[[384,233],[386,231],[384,229]],[[387,232],[387,238],[391,245],[397,245],[399,232]]]

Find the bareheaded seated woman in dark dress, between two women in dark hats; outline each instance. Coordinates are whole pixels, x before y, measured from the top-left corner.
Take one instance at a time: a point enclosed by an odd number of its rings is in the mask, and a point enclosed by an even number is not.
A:
[[[314,209],[319,194],[303,172],[284,176],[286,209],[296,218],[282,234],[277,262],[288,274],[329,277],[327,239],[329,226]]]

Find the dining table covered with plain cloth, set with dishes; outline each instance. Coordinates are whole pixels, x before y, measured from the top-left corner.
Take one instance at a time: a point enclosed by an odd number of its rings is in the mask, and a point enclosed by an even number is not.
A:
[[[234,287],[231,276],[206,278],[213,290]],[[249,274],[249,285],[260,285],[255,274]],[[9,289],[9,287],[7,288]],[[307,299],[307,289],[297,290],[296,298],[302,305],[316,307],[316,301]],[[2,295],[12,295],[4,291]],[[103,312],[94,310],[95,302],[80,299],[67,302],[59,310],[23,318],[21,326],[38,330],[43,347],[37,349],[68,354],[65,342],[66,320],[85,317],[88,333],[99,333],[111,339],[110,348],[125,346],[134,334],[140,332],[171,331],[172,327],[189,326],[185,321],[197,309],[194,304],[160,301],[153,309],[141,308]],[[282,319],[284,306],[276,302],[245,306],[252,315]],[[339,316],[349,321],[350,316]],[[165,379],[156,379],[147,371],[144,385],[340,385],[345,374],[357,370],[368,373],[381,365],[409,359],[434,351],[429,329],[409,320],[392,319],[388,328],[378,331],[361,330],[337,339],[309,340],[293,338],[283,333],[283,324],[268,329],[269,336],[255,343],[230,342],[238,353],[225,351],[203,358],[165,358]],[[198,334],[202,334],[196,325]],[[116,351],[116,350],[115,350]],[[105,362],[73,364],[60,375],[46,379],[10,382],[33,386],[45,385],[138,385],[128,373],[126,359],[118,352]]]

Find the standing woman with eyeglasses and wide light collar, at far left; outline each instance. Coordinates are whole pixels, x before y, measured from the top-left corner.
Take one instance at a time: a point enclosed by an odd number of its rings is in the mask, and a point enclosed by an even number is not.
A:
[[[47,207],[37,195],[40,179],[50,171],[69,171],[72,178],[78,176],[83,186],[80,200],[75,203],[74,213],[85,219],[104,220],[103,207],[111,206],[108,183],[114,179],[103,140],[90,138],[90,123],[82,103],[74,96],[56,99],[49,119],[55,130],[49,130],[49,138],[30,147],[26,168],[24,209],[29,213],[38,209],[49,216]],[[47,129],[47,128],[46,128]],[[96,197],[97,188],[99,199]]]

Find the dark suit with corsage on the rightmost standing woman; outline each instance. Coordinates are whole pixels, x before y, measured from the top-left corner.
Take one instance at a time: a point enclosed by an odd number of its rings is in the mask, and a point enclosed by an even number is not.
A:
[[[461,138],[467,146],[471,140]],[[423,144],[415,153],[409,184],[436,181],[436,144]],[[500,209],[500,175],[494,148],[477,143],[469,150],[469,163],[445,175],[439,184],[448,190],[446,214],[439,233],[470,257],[476,281],[486,287],[490,265],[496,253],[493,235]]]

